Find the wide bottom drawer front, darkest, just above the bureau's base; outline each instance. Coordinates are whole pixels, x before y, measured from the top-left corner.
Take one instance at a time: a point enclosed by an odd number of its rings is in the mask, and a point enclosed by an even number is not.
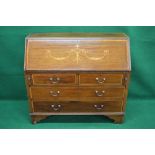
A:
[[[121,101],[34,102],[34,112],[122,112]]]

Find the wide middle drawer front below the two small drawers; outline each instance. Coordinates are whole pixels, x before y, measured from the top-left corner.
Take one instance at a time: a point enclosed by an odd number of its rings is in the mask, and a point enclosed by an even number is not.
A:
[[[67,101],[67,100],[103,100],[106,98],[122,98],[124,88],[103,87],[31,87],[34,101]]]

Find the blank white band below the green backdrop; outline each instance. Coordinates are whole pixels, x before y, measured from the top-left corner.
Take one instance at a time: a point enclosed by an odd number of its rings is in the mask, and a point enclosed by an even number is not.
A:
[[[2,130],[5,155],[154,155],[153,130]]]

